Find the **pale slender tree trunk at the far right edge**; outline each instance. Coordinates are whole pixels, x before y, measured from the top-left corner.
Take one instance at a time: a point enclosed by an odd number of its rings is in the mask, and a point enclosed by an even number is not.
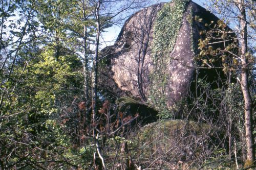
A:
[[[240,35],[241,35],[241,64],[242,64],[242,73],[241,73],[241,87],[244,96],[245,104],[245,138],[246,138],[246,147],[247,147],[247,159],[245,166],[250,166],[253,164],[255,155],[253,152],[253,135],[252,135],[252,115],[251,115],[251,96],[248,85],[248,59],[246,58],[246,53],[248,51],[247,47],[247,22],[246,22],[246,11],[244,6],[244,1],[239,0],[238,5],[241,12],[240,18]]]

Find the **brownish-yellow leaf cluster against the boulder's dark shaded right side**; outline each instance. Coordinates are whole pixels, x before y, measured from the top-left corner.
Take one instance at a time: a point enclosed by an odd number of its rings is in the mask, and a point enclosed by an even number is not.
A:
[[[195,20],[196,19],[198,18],[195,17]],[[206,26],[208,26],[208,23]],[[238,40],[236,39],[236,35],[232,32],[230,33],[230,29],[222,20],[218,20],[216,24],[212,21],[208,27],[210,27],[211,30],[204,30],[200,33],[204,38],[201,37],[199,40],[198,49],[200,53],[196,60],[201,61],[201,66],[222,66],[225,74],[227,74],[228,71],[235,72],[239,67],[238,65],[241,64],[236,55],[238,54]],[[223,39],[227,42],[221,44],[221,42],[217,41],[219,39]],[[214,45],[216,43],[211,44],[211,42],[215,41],[217,41],[219,45],[223,45],[223,47],[215,47]],[[253,57],[250,55],[250,57],[248,57],[249,61],[252,61],[252,58]]]

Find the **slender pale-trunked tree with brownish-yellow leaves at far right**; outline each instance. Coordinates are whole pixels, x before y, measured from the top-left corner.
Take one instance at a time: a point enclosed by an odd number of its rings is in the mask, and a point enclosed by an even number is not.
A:
[[[202,56],[206,54],[213,54],[222,59],[223,70],[228,72],[229,70],[237,70],[239,72],[238,81],[241,84],[241,89],[244,98],[244,115],[245,115],[245,137],[246,137],[246,147],[247,147],[247,160],[245,161],[245,167],[249,167],[253,164],[255,160],[255,153],[253,147],[253,134],[252,134],[252,109],[253,102],[251,94],[253,91],[250,90],[249,76],[250,70],[253,69],[255,53],[254,41],[255,41],[255,1],[215,1],[210,0],[209,4],[214,7],[214,11],[219,14],[226,21],[230,22],[230,27],[233,28],[234,33],[237,34],[237,39],[230,37],[230,30],[223,21],[219,21],[216,26],[211,30],[208,35],[214,35],[210,38],[217,40],[215,43],[222,43],[224,45],[224,50],[216,50],[214,53],[210,49],[209,39],[205,39],[200,42],[201,45],[207,45],[207,49],[201,46]],[[217,37],[216,35],[220,35]],[[209,36],[207,37],[209,38]],[[218,41],[219,40],[219,41]],[[233,41],[234,43],[229,43]],[[238,44],[238,46],[237,46]],[[251,46],[251,47],[250,47]],[[228,54],[228,55],[227,55]],[[228,56],[231,59],[228,59]],[[204,60],[205,63],[211,63],[210,60]],[[228,62],[231,61],[231,62]],[[241,79],[241,80],[240,80]]]

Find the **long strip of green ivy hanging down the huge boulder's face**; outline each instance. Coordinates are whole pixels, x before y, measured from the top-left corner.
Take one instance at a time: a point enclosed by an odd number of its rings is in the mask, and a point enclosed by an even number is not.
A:
[[[188,2],[190,0],[174,0],[173,3],[165,4],[158,12],[154,23],[152,60],[155,70],[150,74],[149,102],[159,111],[162,118],[172,118],[170,108],[166,104],[169,74],[167,70],[171,60],[169,55],[173,51]]]

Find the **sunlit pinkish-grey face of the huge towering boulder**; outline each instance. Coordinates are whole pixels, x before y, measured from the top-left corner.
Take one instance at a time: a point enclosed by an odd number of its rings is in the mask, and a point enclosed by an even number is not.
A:
[[[160,107],[171,110],[175,103],[187,94],[196,75],[197,63],[194,59],[199,54],[198,40],[203,38],[200,31],[208,30],[205,23],[216,23],[219,19],[190,1],[183,3],[182,8],[176,7],[180,2],[184,1],[176,0],[173,3],[161,3],[145,8],[126,20],[115,44],[101,52],[107,65],[101,71],[104,77],[101,84],[109,86],[109,89],[112,89],[110,91],[117,96],[133,96],[140,102],[150,103],[157,110]],[[176,23],[174,26],[178,27],[178,31],[169,37],[166,35],[167,40],[174,41],[163,44],[171,46],[173,43],[173,46],[164,56],[158,56],[162,49],[154,51],[154,46],[157,45],[154,41],[157,34],[154,31],[157,19],[164,15],[163,12],[158,14],[163,8],[183,11],[180,24]],[[166,16],[163,17],[166,19]],[[196,21],[195,17],[202,20]],[[173,28],[172,25],[164,27]],[[164,32],[162,35],[160,32],[160,37],[165,39],[163,34]],[[215,70],[203,69],[200,72],[203,76],[208,76],[209,81],[217,77]],[[106,85],[106,79],[110,85]]]

